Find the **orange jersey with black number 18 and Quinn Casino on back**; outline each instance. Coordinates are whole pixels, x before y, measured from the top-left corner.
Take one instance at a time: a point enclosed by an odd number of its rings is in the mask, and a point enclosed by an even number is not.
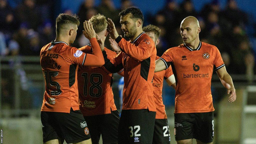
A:
[[[91,45],[79,48],[84,53],[92,53]],[[116,53],[104,48],[109,58]],[[78,67],[78,92],[80,110],[83,116],[110,114],[111,109],[116,110],[112,91],[113,74],[104,66]]]

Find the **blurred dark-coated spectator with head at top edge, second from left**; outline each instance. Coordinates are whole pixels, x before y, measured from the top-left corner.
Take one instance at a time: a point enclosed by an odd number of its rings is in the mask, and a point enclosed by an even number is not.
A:
[[[34,0],[24,0],[22,4],[16,7],[16,15],[21,23],[28,23],[29,28],[37,30],[41,24],[40,13]]]

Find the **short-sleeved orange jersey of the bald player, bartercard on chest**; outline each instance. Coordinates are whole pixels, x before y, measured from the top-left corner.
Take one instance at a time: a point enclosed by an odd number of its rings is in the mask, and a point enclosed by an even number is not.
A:
[[[186,44],[173,47],[161,58],[172,66],[176,80],[174,113],[214,111],[211,95],[213,70],[225,66],[216,46],[200,42],[196,49]]]

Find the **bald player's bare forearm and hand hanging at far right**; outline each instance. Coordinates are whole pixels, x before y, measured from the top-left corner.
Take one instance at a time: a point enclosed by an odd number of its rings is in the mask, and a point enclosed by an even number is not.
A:
[[[236,97],[237,97],[236,89],[234,88],[232,78],[228,74],[228,72],[226,70],[226,67],[223,66],[222,68],[218,69],[216,71],[216,73],[218,74],[218,76],[220,78],[220,81],[223,84],[223,86],[228,89],[228,94],[231,93],[231,95],[228,98],[228,102],[234,102],[236,100]]]

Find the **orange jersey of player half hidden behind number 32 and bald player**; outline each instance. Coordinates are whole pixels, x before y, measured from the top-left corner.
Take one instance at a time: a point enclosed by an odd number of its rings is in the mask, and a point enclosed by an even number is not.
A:
[[[156,60],[159,57],[156,56]],[[167,119],[165,113],[165,105],[163,104],[162,90],[163,81],[173,75],[172,67],[168,67],[166,70],[158,71],[154,74],[153,78],[153,93],[156,104],[156,119]]]

